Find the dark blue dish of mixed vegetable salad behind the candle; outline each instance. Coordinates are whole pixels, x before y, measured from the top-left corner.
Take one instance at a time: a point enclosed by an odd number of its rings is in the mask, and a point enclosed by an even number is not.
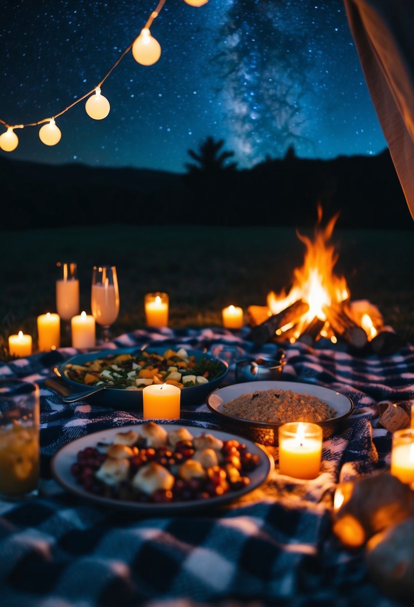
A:
[[[181,404],[199,405],[219,387],[228,364],[201,350],[148,344],[76,354],[57,368],[75,393],[105,388],[90,402],[119,409],[142,410],[142,390],[151,384],[173,384],[182,389]]]

